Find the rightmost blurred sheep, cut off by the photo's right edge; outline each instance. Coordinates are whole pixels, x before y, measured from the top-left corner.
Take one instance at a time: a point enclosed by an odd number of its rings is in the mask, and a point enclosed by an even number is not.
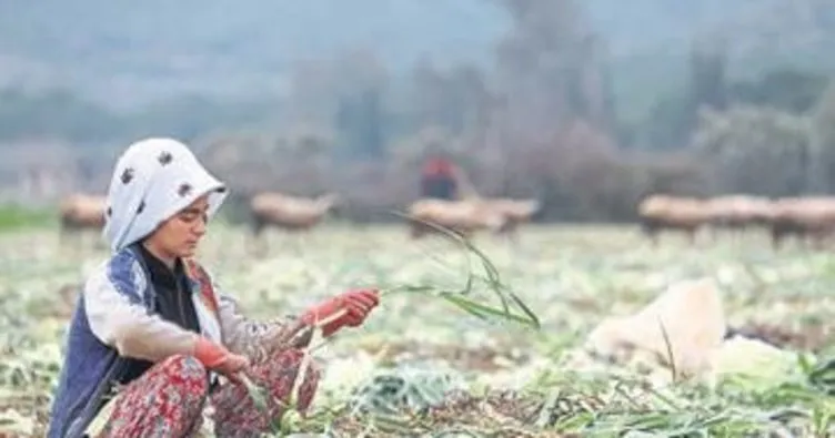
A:
[[[835,197],[784,197],[773,203],[772,212],[769,226],[775,249],[788,235],[801,241],[811,237],[819,248],[823,240],[835,231]]]

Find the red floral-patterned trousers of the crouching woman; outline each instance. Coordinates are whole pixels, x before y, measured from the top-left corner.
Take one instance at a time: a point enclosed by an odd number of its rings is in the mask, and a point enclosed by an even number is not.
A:
[[[111,401],[110,416],[97,437],[192,437],[202,426],[203,408],[214,408],[218,437],[258,437],[284,412],[304,354],[289,349],[254,365],[248,375],[262,391],[266,409],[255,406],[243,385],[227,381],[209,394],[203,365],[193,357],[173,356],[151,367]],[[304,414],[321,374],[308,368],[295,409]],[[266,394],[264,394],[266,396]]]

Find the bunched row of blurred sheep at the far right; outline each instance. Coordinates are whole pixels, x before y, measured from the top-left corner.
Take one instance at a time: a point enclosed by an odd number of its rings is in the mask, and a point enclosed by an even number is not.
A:
[[[696,198],[655,194],[638,204],[637,213],[643,232],[655,243],[663,231],[683,232],[693,243],[705,227],[714,235],[720,230],[759,228],[771,234],[775,248],[792,236],[821,247],[835,231],[835,197],[827,196]]]

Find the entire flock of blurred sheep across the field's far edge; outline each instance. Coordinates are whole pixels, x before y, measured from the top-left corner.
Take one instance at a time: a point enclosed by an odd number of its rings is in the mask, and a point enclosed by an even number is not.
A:
[[[258,237],[268,227],[309,231],[320,224],[340,202],[339,195],[298,197],[265,192],[250,197],[250,230]],[[411,203],[405,217],[413,238],[437,230],[453,230],[463,235],[486,231],[515,236],[517,227],[530,222],[541,208],[537,200],[489,198],[469,194],[459,200],[421,198]],[[61,235],[104,225],[104,198],[90,194],[71,194],[60,204]],[[779,247],[786,237],[819,247],[835,231],[835,197],[803,196],[767,198],[751,195],[724,195],[710,198],[654,194],[637,207],[642,231],[657,243],[662,232],[678,232],[695,242],[703,228],[744,232],[759,228],[771,234]]]

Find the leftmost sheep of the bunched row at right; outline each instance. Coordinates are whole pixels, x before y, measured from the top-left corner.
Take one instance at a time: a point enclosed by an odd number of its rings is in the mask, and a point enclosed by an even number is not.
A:
[[[641,228],[653,244],[657,244],[657,235],[663,230],[683,231],[693,244],[696,232],[708,221],[707,205],[694,197],[651,195],[638,204],[637,211]]]

